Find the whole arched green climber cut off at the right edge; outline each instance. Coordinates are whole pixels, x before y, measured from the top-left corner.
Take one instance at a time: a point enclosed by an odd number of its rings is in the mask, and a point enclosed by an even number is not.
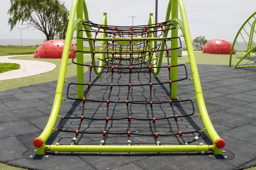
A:
[[[233,45],[230,53],[230,62],[231,66],[232,62],[232,51],[235,45],[238,46],[239,52],[236,52],[236,56],[239,58],[239,61],[233,66],[233,68],[248,68],[248,67],[256,67],[256,44],[255,44],[255,36],[256,33],[256,11],[244,22],[239,31],[236,34],[236,37],[233,41]],[[237,40],[241,38],[244,40],[244,43],[247,46],[247,50],[244,51],[241,48],[241,43]],[[242,56],[241,56],[242,54]],[[248,61],[247,61],[248,60]],[[243,61],[243,64],[241,63]],[[239,65],[240,64],[240,65]]]

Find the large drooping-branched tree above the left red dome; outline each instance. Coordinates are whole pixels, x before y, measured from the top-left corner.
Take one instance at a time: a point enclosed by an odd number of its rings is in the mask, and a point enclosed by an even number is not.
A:
[[[70,12],[59,0],[10,0],[10,31],[18,24],[42,31],[47,40],[65,39]]]

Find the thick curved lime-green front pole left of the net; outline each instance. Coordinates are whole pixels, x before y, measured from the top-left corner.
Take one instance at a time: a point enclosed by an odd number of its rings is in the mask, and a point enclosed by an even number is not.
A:
[[[57,88],[55,92],[55,98],[52,106],[52,112],[49,116],[49,120],[47,122],[47,125],[44,128],[44,131],[41,133],[39,138],[43,140],[43,145],[41,147],[37,148],[37,154],[38,155],[44,155],[45,153],[45,142],[52,133],[52,128],[55,125],[58,112],[60,109],[61,105],[61,98],[62,98],[62,93],[63,93],[63,86],[64,86],[64,80],[65,80],[65,74],[66,74],[66,69],[67,69],[67,59],[69,56],[70,52],[70,44],[72,41],[73,37],[73,25],[75,21],[75,16],[76,16],[76,8],[79,0],[73,0],[72,6],[71,6],[71,11],[70,11],[70,19],[68,22],[68,27],[67,27],[67,35],[65,39],[65,44],[64,44],[64,49],[63,49],[63,54],[62,54],[62,59],[61,59],[61,67],[59,71],[59,76],[58,76],[58,83],[57,83]]]

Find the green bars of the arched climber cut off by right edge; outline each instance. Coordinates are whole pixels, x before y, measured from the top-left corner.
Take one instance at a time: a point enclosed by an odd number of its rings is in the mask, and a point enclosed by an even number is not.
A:
[[[250,24],[250,20],[254,18],[254,21],[252,24]],[[246,24],[250,25],[250,34],[247,33],[247,31],[244,29],[244,26],[246,26]],[[238,47],[240,48],[240,51],[242,53],[242,57],[241,59],[239,59],[238,62],[236,62],[236,64],[233,66],[233,68],[244,68],[244,67],[256,67],[256,65],[239,65],[240,62],[245,58],[245,57],[250,57],[250,54],[252,51],[255,50],[256,48],[256,44],[255,42],[253,42],[253,36],[254,36],[254,33],[256,33],[256,29],[255,29],[255,25],[256,25],[256,11],[250,16],[248,17],[247,20],[245,20],[245,22],[243,23],[243,25],[241,26],[241,28],[239,29],[239,31],[237,32],[236,34],[236,37],[233,41],[233,45],[232,45],[232,48],[231,48],[231,51],[230,51],[230,62],[229,62],[229,66],[231,66],[231,62],[232,62],[232,52],[233,52],[233,49],[234,49],[234,46],[237,44]],[[241,34],[241,31],[244,30],[245,33],[246,33],[246,36],[249,38],[248,42],[246,42],[246,40],[244,39],[244,36]],[[243,51],[239,45],[239,43],[237,42],[237,38],[239,37],[239,35],[242,37],[242,39],[244,40],[245,44],[247,45],[247,51]],[[240,57],[238,56],[238,54],[236,53],[236,56],[237,57]]]

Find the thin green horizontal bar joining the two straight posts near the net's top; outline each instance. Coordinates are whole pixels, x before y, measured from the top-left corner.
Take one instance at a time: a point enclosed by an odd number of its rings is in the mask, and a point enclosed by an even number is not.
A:
[[[93,38],[81,38],[84,39],[84,41],[93,41]],[[95,41],[112,41],[113,37],[100,37],[100,38],[95,38]],[[115,41],[130,41],[131,37],[115,37]],[[171,41],[171,39],[174,38],[166,38],[166,41]],[[131,40],[134,41],[146,41],[147,38],[142,38],[142,37],[133,37]],[[163,41],[163,38],[156,38],[156,37],[149,37],[149,41]]]

